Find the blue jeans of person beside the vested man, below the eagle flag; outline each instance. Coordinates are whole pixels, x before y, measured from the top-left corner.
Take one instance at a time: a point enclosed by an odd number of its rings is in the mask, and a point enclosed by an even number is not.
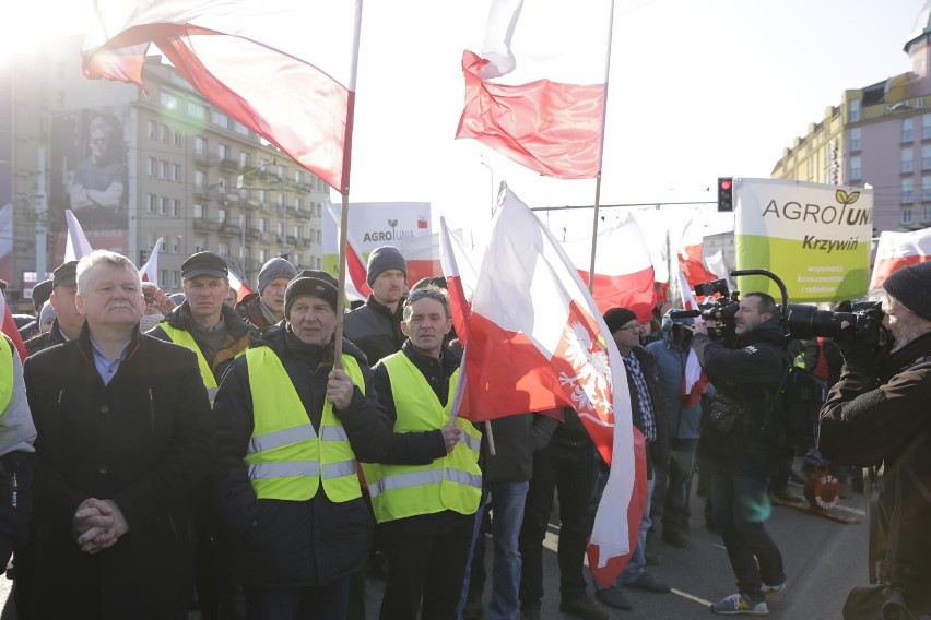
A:
[[[530,482],[490,482],[486,485],[491,493],[492,505],[492,542],[495,556],[492,562],[492,603],[488,607],[491,620],[512,620],[517,618],[520,607],[520,548],[518,538],[523,524],[523,506]],[[484,503],[483,503],[484,505]],[[475,513],[475,528],[472,533],[473,551],[484,546],[481,538],[484,510]],[[484,567],[471,567],[472,560],[484,562],[484,553],[470,556],[466,569],[466,582],[462,584],[462,595],[459,600],[457,617],[462,618],[462,608],[469,596],[470,568],[471,572],[481,571]],[[474,584],[475,592],[482,592],[481,583]]]

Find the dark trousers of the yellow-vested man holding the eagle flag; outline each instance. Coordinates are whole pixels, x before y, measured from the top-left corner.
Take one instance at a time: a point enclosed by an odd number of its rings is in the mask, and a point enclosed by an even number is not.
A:
[[[456,620],[472,547],[474,515],[456,515],[448,521],[449,527],[421,533],[399,525],[392,522],[379,525],[388,562],[379,618]]]

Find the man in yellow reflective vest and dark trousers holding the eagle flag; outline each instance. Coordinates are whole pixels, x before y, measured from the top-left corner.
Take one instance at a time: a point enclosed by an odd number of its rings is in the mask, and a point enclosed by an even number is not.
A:
[[[388,561],[381,620],[452,620],[482,494],[481,436],[450,416],[459,359],[444,345],[446,296],[422,288],[402,311],[410,339],[374,369],[397,434],[385,458],[363,465]]]

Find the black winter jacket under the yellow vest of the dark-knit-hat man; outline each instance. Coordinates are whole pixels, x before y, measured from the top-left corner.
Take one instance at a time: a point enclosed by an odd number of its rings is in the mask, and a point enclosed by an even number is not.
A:
[[[286,326],[252,332],[251,346],[281,358],[319,433],[333,345],[302,343]],[[356,388],[350,407],[334,413],[360,461],[380,461],[390,443],[391,421],[378,405],[365,357],[343,339],[344,354],[360,362],[365,395]],[[372,516],[362,498],[330,501],[321,486],[307,501],[258,500],[243,458],[254,429],[252,396],[245,356],[236,358],[214,402],[219,473],[217,512],[229,536],[234,570],[258,587],[323,586],[355,572],[368,557]]]

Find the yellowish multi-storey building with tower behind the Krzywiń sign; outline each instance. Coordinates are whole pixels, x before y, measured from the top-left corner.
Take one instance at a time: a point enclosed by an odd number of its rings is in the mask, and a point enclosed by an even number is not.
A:
[[[873,188],[873,227],[931,226],[931,1],[905,43],[911,70],[862,88],[811,123],[773,177]]]

